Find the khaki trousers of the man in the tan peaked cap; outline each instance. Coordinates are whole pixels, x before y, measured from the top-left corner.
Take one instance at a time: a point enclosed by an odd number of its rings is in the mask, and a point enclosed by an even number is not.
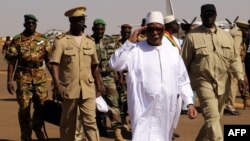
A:
[[[77,109],[79,120],[83,121],[83,129],[88,141],[99,141],[99,132],[96,125],[95,98],[66,99],[62,103],[62,118],[60,123],[61,141],[74,141],[76,133]]]

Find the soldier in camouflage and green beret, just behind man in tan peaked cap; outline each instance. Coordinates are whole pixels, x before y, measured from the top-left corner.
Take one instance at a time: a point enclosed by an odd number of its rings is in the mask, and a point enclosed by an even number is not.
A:
[[[106,23],[102,19],[96,19],[92,27],[92,37],[95,39],[96,43],[97,56],[100,61],[99,68],[102,75],[102,81],[105,86],[103,97],[110,109],[108,115],[111,120],[111,126],[115,129],[115,140],[124,141],[121,135],[121,128],[123,128],[123,124],[121,123],[118,105],[118,92],[115,84],[115,81],[118,80],[117,74],[108,67],[109,59],[116,48],[114,39],[111,36],[104,35],[105,25]],[[103,132],[105,132],[105,128],[103,128],[100,124],[100,114],[101,113],[97,113],[97,124],[100,134],[102,135]]]

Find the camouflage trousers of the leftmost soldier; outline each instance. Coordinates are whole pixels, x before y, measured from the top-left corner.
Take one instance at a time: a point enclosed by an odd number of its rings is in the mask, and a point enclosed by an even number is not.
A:
[[[17,81],[18,119],[21,128],[21,141],[31,141],[32,129],[39,141],[45,140],[42,132],[42,105],[47,98],[46,83],[33,84]],[[34,112],[31,118],[31,103]]]

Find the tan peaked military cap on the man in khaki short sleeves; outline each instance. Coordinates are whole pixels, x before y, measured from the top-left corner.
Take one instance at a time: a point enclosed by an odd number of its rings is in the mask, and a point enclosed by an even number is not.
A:
[[[86,16],[86,7],[79,6],[72,8],[64,13],[64,16],[66,17],[80,17],[80,16]]]

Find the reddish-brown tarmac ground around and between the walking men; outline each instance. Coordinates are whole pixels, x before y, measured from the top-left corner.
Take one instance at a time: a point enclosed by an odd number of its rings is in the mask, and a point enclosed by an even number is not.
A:
[[[1,51],[1,50],[0,50]],[[7,64],[3,59],[3,55],[0,55],[0,141],[20,141],[20,128],[18,125],[17,111],[18,104],[16,102],[15,95],[10,95],[6,88],[7,78]],[[50,81],[48,81],[48,87],[50,89]],[[51,97],[51,92],[49,92]],[[197,109],[199,109],[199,102],[195,103]],[[224,115],[221,119],[222,128],[228,124],[244,124],[250,125],[250,110],[243,110],[242,99],[240,96],[236,98],[236,108],[240,110],[241,115],[231,116]],[[181,115],[178,127],[175,130],[180,137],[175,138],[175,141],[194,141],[199,129],[203,124],[203,117],[201,113],[198,114],[196,119],[190,120],[187,115]],[[110,122],[108,122],[110,127]],[[50,141],[59,141],[59,127],[50,123],[45,123],[45,127],[48,133]],[[123,131],[125,138],[131,140],[131,133]],[[143,136],[143,133],[142,133]],[[34,132],[32,138],[36,141]],[[108,129],[108,136],[101,137],[101,141],[114,140],[114,132],[112,129]]]

